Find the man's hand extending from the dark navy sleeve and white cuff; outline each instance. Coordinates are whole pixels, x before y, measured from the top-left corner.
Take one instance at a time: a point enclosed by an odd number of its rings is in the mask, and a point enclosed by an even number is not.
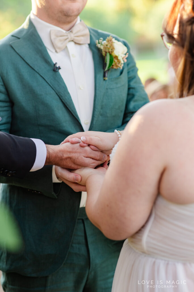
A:
[[[79,147],[79,144],[69,142],[61,145],[46,145],[47,164],[53,164],[68,169],[82,167],[95,168],[107,160],[107,155],[101,151],[94,151],[89,146]]]

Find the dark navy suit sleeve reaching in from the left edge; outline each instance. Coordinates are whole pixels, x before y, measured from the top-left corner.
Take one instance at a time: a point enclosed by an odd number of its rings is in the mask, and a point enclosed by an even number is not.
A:
[[[36,145],[29,138],[0,132],[0,175],[23,178],[36,159]]]

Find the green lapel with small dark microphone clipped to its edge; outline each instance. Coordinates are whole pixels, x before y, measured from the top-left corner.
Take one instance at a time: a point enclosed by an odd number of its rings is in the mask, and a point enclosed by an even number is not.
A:
[[[10,43],[13,49],[30,67],[47,81],[74,117],[80,122],[67,86],[60,73],[53,71],[53,61],[31,22],[30,17],[26,19],[23,27],[13,33],[13,36],[17,37],[17,40]],[[34,86],[36,85],[34,84]]]

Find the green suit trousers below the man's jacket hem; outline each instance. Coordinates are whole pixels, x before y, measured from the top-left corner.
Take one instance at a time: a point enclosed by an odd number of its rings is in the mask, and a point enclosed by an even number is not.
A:
[[[107,239],[80,208],[65,263],[47,277],[3,273],[6,292],[111,292],[114,270],[123,241]]]

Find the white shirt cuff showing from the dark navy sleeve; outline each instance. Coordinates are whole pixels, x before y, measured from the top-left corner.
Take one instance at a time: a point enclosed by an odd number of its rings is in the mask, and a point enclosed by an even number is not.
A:
[[[36,171],[45,165],[45,161],[47,158],[47,148],[42,140],[33,138],[31,138],[31,140],[36,145],[36,159],[30,171]]]

